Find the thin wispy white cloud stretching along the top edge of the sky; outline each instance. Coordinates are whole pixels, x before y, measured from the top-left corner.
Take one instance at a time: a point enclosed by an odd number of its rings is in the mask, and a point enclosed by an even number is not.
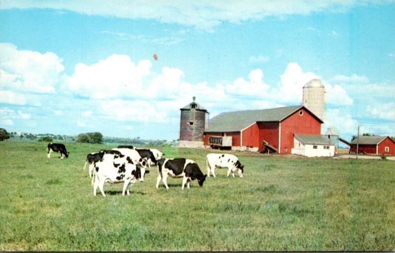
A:
[[[286,1],[144,1],[134,4],[123,1],[4,1],[1,9],[8,8],[54,8],[75,11],[87,15],[113,16],[128,19],[155,19],[163,23],[176,23],[210,30],[224,21],[238,24],[246,20],[263,20],[268,16],[292,14],[307,15],[313,12],[344,12],[353,7],[386,1],[339,1],[339,0],[294,0]]]

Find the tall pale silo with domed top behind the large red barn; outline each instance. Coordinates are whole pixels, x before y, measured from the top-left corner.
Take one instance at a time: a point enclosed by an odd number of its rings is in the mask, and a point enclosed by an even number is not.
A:
[[[319,79],[312,79],[303,86],[303,106],[318,118],[324,118],[325,86]]]

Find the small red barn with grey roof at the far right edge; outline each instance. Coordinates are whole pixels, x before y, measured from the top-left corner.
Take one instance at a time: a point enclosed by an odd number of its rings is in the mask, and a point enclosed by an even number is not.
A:
[[[359,136],[350,145],[350,153],[395,155],[395,141],[389,136]]]

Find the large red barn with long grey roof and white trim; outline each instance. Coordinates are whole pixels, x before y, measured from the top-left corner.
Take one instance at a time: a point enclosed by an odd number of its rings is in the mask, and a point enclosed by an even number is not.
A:
[[[304,106],[224,112],[210,119],[203,143],[227,136],[232,137],[233,149],[262,150],[266,141],[278,153],[290,154],[294,134],[320,135],[322,123]]]

